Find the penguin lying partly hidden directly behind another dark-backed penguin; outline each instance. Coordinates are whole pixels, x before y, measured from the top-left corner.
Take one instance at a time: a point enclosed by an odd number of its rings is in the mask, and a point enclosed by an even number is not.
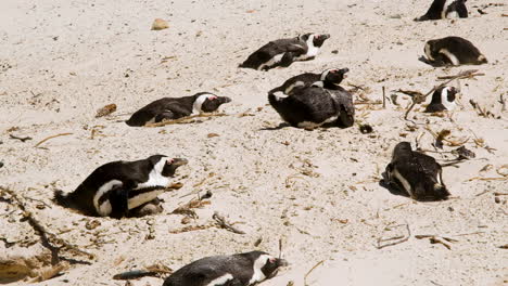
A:
[[[277,87],[268,92],[272,94],[276,92],[282,92],[287,95],[291,94],[291,91],[295,87],[309,87],[316,81],[328,81],[333,84],[340,84],[342,80],[346,77],[346,73],[350,72],[348,68],[330,68],[323,70],[321,74],[305,73],[297,76],[294,76],[282,83],[282,86]]]

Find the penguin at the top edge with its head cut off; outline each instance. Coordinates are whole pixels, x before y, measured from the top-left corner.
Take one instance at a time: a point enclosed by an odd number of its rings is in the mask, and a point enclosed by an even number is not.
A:
[[[452,17],[468,17],[468,8],[466,6],[467,0],[434,0],[427,11],[427,13],[415,18],[417,22],[428,20],[442,20]]]

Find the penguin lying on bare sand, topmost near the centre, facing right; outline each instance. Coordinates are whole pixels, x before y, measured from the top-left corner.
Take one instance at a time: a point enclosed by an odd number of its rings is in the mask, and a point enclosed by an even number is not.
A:
[[[288,67],[297,61],[310,61],[328,38],[328,34],[305,34],[270,41],[251,54],[239,67],[266,72],[278,66]]]

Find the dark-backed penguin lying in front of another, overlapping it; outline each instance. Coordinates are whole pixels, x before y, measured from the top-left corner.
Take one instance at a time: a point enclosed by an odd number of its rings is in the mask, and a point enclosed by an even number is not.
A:
[[[314,129],[326,123],[351,127],[355,121],[351,93],[323,81],[296,88],[285,98],[268,94],[268,102],[293,127]]]

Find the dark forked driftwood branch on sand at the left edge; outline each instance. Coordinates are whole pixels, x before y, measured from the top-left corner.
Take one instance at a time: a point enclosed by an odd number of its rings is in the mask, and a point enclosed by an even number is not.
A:
[[[51,264],[56,265],[61,260],[60,260],[60,251],[69,251],[74,252],[80,256],[86,256],[88,259],[94,259],[94,255],[79,249],[77,246],[72,245],[64,239],[58,237],[55,234],[49,232],[40,222],[38,219],[35,218],[34,213],[31,213],[27,207],[26,204],[23,202],[23,199],[12,190],[4,188],[0,186],[0,191],[9,194],[12,198],[12,202],[14,205],[22,210],[22,216],[28,221],[30,226],[34,229],[36,234],[40,237],[41,244],[43,247],[48,248],[51,251]],[[60,246],[55,246],[60,245]]]

